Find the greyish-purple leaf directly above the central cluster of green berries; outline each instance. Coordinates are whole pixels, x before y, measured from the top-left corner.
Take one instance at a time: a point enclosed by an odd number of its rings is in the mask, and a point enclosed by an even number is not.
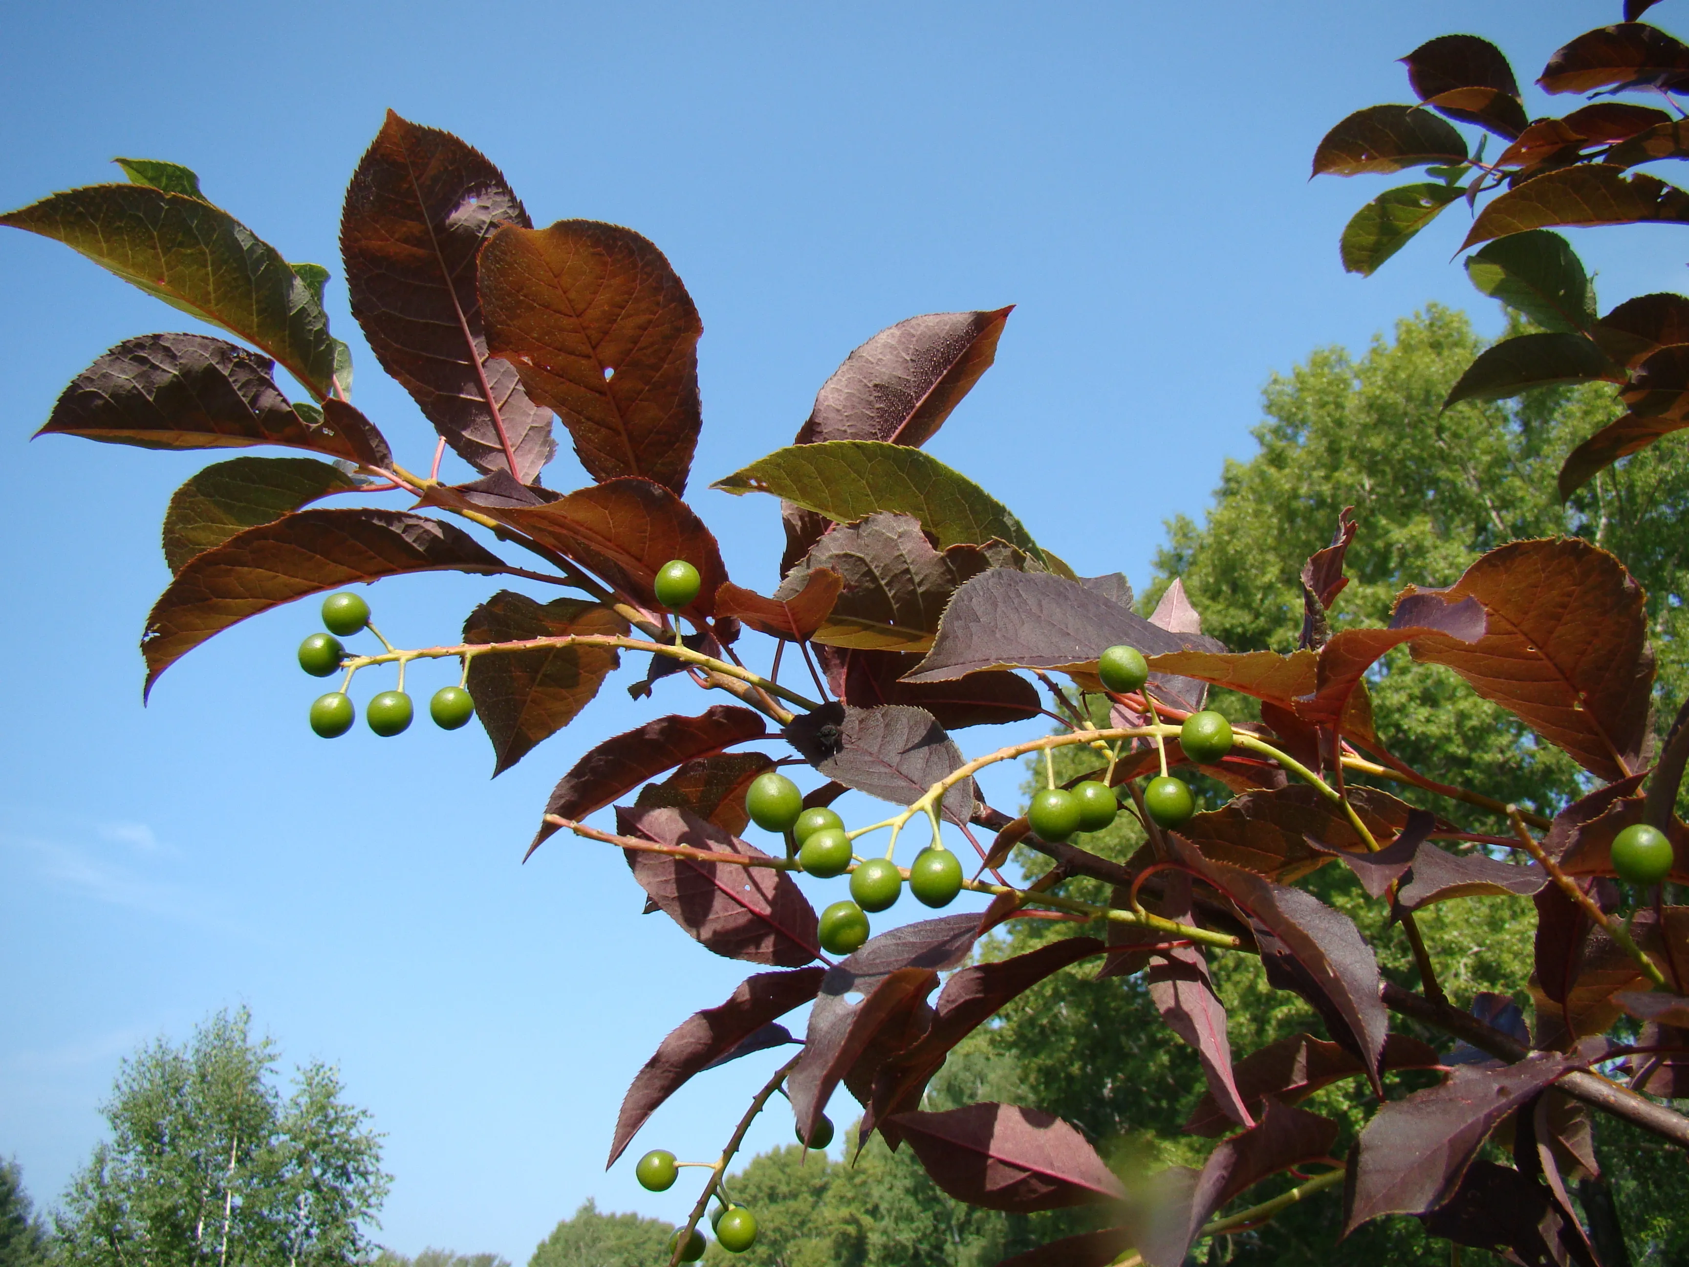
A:
[[[912,804],[963,765],[961,748],[944,726],[907,704],[828,704],[792,721],[785,738],[829,779],[899,806]],[[978,804],[975,791],[973,779],[951,787],[941,802],[942,816],[968,823]]]

